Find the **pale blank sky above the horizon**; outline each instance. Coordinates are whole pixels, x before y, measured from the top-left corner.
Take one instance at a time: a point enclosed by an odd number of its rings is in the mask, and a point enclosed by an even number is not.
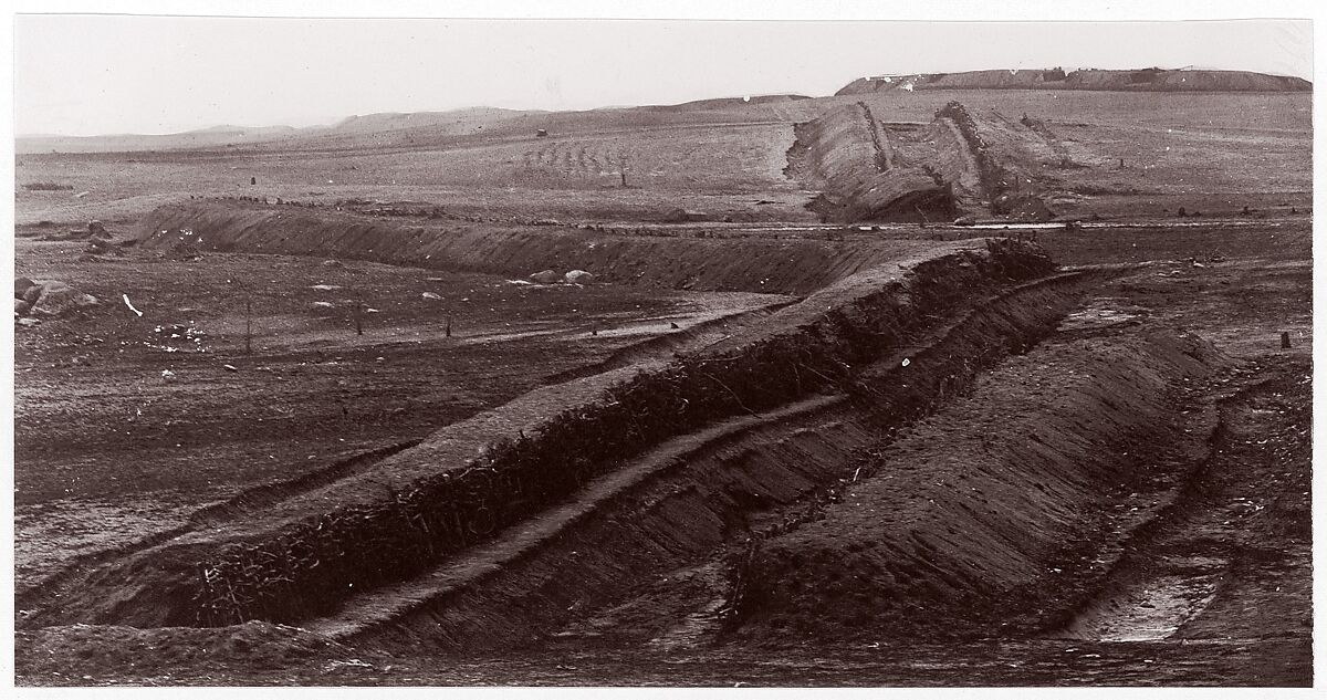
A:
[[[1190,65],[1311,80],[1312,27],[27,15],[15,17],[15,131],[307,126],[480,105],[825,95],[877,73]]]

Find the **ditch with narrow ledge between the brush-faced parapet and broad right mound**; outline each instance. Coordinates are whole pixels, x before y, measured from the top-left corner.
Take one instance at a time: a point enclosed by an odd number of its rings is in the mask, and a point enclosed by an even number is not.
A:
[[[311,628],[373,644],[427,643],[498,650],[553,636],[597,644],[687,634],[686,618],[711,627],[725,616],[727,548],[759,522],[815,510],[837,480],[851,480],[882,431],[943,406],[977,373],[1035,345],[1074,305],[1083,282],[1038,280],[977,302],[894,347],[861,373],[849,394],[819,396],[756,416],[738,416],[625,465],[626,484],[601,480],[597,502],[561,524],[523,528],[525,553],[502,566],[455,566],[429,594],[402,591],[389,606],[366,599]],[[909,359],[906,365],[901,361]],[[828,492],[827,492],[827,485]],[[500,555],[499,549],[471,555]],[[372,597],[370,597],[372,598]],[[694,615],[699,609],[701,614]],[[559,631],[564,630],[564,631]],[[492,634],[496,631],[496,634]]]

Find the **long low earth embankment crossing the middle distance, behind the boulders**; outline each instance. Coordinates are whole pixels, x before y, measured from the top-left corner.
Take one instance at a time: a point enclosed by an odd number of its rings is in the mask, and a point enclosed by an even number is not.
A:
[[[571,227],[499,227],[380,219],[243,202],[188,202],[153,211],[138,239],[171,251],[179,231],[202,251],[309,255],[524,277],[583,269],[608,284],[805,294],[929,241],[718,240],[604,233]],[[162,232],[166,233],[162,233]]]

